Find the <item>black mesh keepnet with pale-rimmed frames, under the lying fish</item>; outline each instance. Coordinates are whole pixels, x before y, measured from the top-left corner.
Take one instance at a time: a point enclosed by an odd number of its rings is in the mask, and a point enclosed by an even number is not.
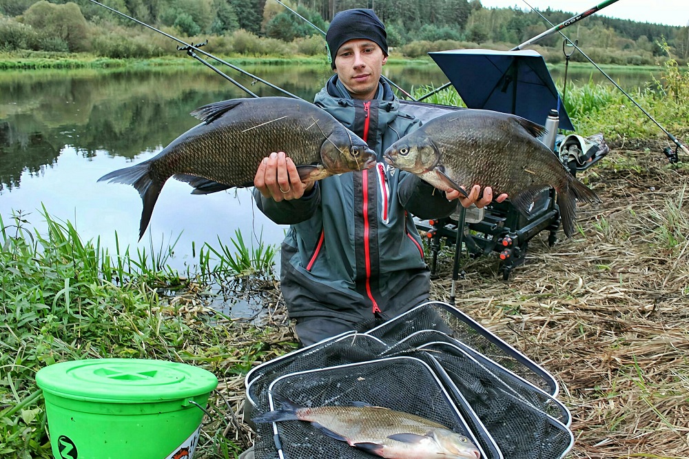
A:
[[[471,438],[483,459],[557,459],[573,445],[551,374],[446,303],[431,302],[264,363],[247,375],[245,420],[297,405],[363,402],[435,420]],[[279,403],[278,403],[279,405]],[[372,458],[307,422],[260,423],[256,458]],[[276,446],[278,445],[278,446]],[[326,456],[327,455],[327,456]]]

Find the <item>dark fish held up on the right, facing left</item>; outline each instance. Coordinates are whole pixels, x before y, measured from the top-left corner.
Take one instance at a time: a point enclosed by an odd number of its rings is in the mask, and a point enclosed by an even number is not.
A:
[[[523,214],[528,214],[537,194],[553,187],[562,228],[572,236],[576,200],[600,200],[537,139],[543,133],[542,126],[513,114],[457,110],[402,137],[384,152],[384,158],[440,190],[490,186],[494,196],[508,194]]]

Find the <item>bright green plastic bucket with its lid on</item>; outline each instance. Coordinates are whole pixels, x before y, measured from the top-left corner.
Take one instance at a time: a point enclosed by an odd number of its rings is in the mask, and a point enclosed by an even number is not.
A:
[[[103,358],[36,374],[56,459],[190,459],[218,379],[183,363]]]

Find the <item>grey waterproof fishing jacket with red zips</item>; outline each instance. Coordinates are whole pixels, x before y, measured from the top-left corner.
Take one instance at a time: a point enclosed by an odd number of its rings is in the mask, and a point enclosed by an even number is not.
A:
[[[447,216],[444,192],[382,162],[382,152],[420,126],[400,112],[382,82],[373,101],[340,98],[333,76],[316,105],[367,141],[376,167],[330,176],[300,199],[277,203],[254,190],[260,210],[290,225],[281,247],[280,288],[291,318],[329,316],[360,323],[391,318],[429,296],[429,269],[412,214]],[[289,156],[289,152],[286,152]]]

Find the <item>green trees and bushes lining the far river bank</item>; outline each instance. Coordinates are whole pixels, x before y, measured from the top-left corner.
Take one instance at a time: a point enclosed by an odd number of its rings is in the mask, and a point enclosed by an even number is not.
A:
[[[347,8],[373,8],[387,27],[393,54],[421,57],[453,48],[509,49],[550,28],[537,12],[484,8],[479,0],[287,0],[307,23],[274,0],[103,0],[125,14],[170,34],[198,41],[211,38],[220,54],[318,55],[329,20]],[[526,3],[525,6],[526,8]],[[577,12],[540,12],[553,24]],[[316,27],[314,27],[316,26]],[[565,30],[599,63],[655,64],[667,56],[689,59],[685,27],[610,19],[595,14]],[[562,61],[562,37],[537,44],[548,62]],[[558,52],[559,50],[559,52]],[[0,0],[0,52],[88,52],[112,58],[172,54],[174,45],[152,38],[134,21],[89,0]],[[573,57],[577,60],[577,55]],[[583,57],[578,59],[584,60]]]

